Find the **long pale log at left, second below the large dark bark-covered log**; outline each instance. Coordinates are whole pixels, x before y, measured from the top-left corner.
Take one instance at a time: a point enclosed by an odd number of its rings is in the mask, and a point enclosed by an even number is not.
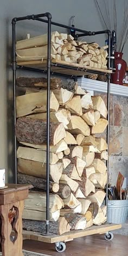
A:
[[[28,148],[28,147],[18,147],[17,158],[46,163],[47,153],[46,151],[42,151],[39,149]],[[55,153],[50,152],[49,163],[55,164],[57,161],[59,161],[59,157]]]

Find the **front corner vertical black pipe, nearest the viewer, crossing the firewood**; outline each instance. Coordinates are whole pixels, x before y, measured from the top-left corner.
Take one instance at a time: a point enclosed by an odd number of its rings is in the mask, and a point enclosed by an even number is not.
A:
[[[50,140],[50,47],[51,15],[48,15],[48,56],[47,56],[47,197],[46,197],[46,233],[49,233],[49,140]]]

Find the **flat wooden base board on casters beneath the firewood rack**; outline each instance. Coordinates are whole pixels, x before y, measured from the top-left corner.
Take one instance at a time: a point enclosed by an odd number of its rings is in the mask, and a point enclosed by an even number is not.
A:
[[[94,235],[94,234],[105,234],[107,231],[112,231],[120,228],[121,228],[121,224],[102,224],[100,226],[93,225],[92,227],[87,228],[85,230],[70,231],[63,235],[48,235],[48,236],[41,235],[41,233],[34,232],[34,231],[23,230],[23,239],[36,240],[36,241],[41,241],[46,243],[55,243],[55,242],[61,242],[61,241],[66,242],[82,236]]]

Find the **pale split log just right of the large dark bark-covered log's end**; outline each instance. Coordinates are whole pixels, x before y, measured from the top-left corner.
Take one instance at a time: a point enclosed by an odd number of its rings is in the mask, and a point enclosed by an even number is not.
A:
[[[77,117],[76,115],[72,115],[71,120],[68,124],[68,129],[69,129],[69,132],[73,134],[80,133],[85,136],[90,135],[89,126],[81,117]]]

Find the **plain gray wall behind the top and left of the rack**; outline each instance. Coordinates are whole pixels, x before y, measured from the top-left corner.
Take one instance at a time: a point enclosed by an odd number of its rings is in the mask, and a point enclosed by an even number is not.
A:
[[[109,1],[109,0],[108,0]],[[102,30],[103,26],[95,8],[94,0],[1,0],[0,8],[0,168],[8,169],[8,176],[12,181],[12,74],[10,70],[11,60],[11,19],[15,16],[38,14],[49,11],[53,21],[69,25],[72,15],[75,15],[75,26],[90,31]],[[31,36],[47,32],[46,25],[39,22],[23,21],[16,26],[17,39],[24,39],[26,33]],[[55,27],[52,31],[55,31]],[[58,29],[64,32],[63,29]],[[105,36],[88,38],[104,45]],[[124,50],[125,59],[128,60]]]

